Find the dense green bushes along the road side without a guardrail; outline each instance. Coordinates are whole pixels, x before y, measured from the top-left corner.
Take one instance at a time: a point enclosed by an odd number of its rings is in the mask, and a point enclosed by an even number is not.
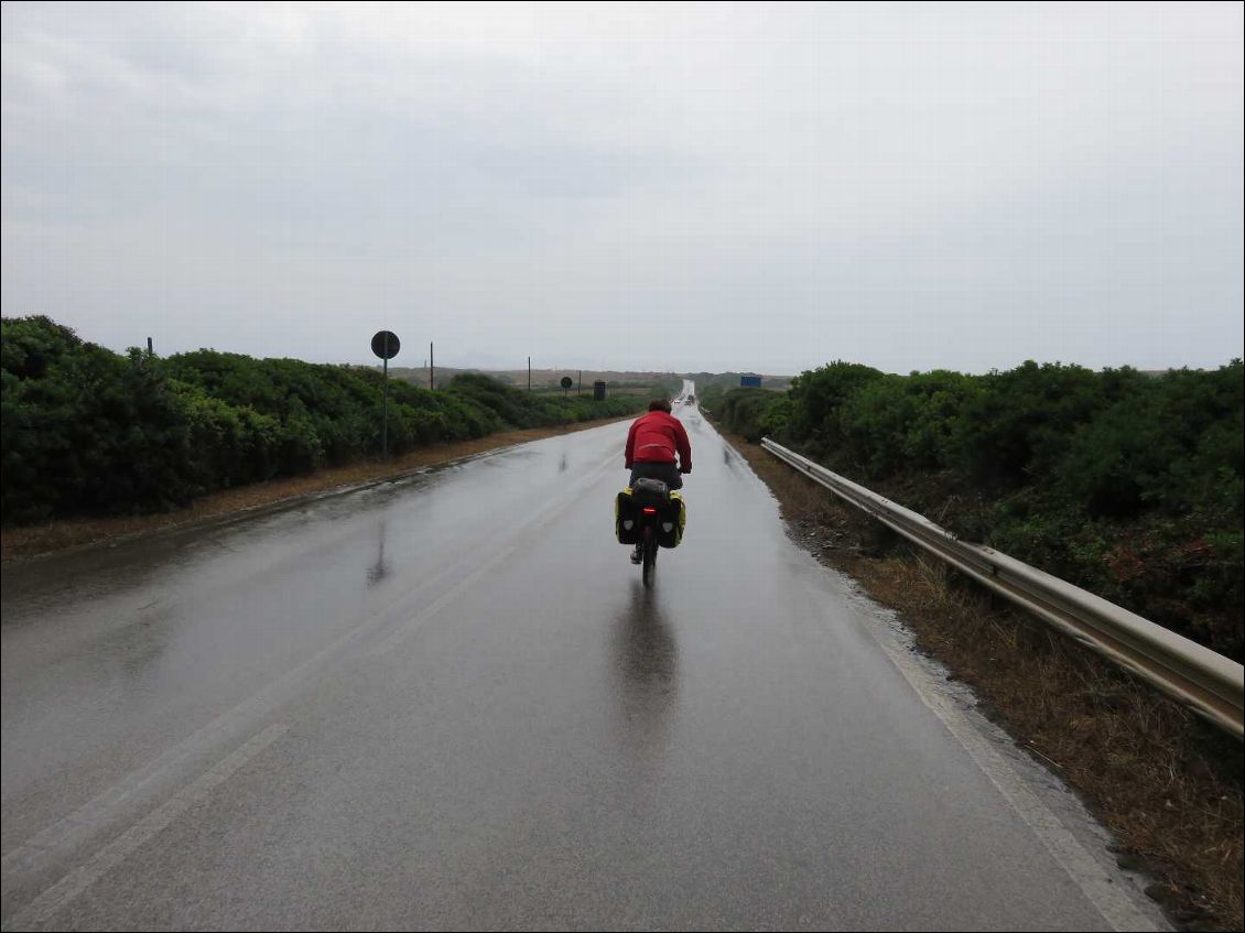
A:
[[[0,327],[5,524],[169,509],[218,489],[308,473],[381,449],[382,376],[369,367],[200,350],[121,356],[47,317]],[[401,454],[504,428],[624,415],[644,397],[535,396],[483,376],[441,392],[390,381]]]

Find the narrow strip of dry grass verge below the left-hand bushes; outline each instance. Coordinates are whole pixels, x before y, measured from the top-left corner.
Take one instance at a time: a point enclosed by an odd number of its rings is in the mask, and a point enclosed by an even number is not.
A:
[[[390,460],[362,460],[347,466],[316,470],[305,476],[275,479],[238,489],[227,489],[202,496],[186,509],[158,515],[125,515],[106,519],[65,519],[29,527],[0,530],[0,561],[61,551],[67,547],[116,541],[133,535],[148,534],[178,525],[192,525],[219,519],[234,513],[259,509],[266,505],[298,499],[311,493],[325,493],[342,486],[354,486],[370,480],[400,476],[421,466],[430,466],[461,457],[496,450],[497,448],[539,440],[555,434],[569,434],[585,428],[598,428],[625,418],[605,418],[559,428],[528,428],[489,434],[476,440],[454,444],[433,444],[412,450]]]

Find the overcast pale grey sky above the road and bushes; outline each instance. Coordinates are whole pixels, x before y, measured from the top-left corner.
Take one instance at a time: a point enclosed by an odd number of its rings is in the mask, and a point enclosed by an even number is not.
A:
[[[2,305],[369,361],[1243,355],[1243,5],[2,7]]]

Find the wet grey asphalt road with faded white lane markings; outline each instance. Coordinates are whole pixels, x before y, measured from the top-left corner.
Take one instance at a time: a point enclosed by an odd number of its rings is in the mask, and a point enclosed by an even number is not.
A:
[[[625,424],[6,570],[4,926],[1147,928],[681,413],[651,591]]]

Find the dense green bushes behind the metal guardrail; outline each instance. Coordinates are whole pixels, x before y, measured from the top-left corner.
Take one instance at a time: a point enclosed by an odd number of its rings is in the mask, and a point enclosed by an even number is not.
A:
[[[1241,361],[1144,374],[1027,362],[891,376],[832,363],[701,402],[961,536],[1241,659]]]

